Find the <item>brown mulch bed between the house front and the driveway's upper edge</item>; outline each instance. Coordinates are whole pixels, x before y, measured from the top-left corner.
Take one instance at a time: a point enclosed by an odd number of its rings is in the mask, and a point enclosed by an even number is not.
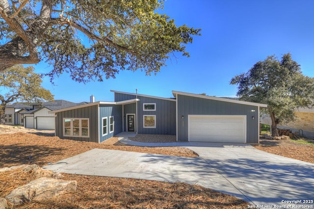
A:
[[[103,143],[95,143],[59,139],[58,137],[46,136],[46,134],[41,133],[15,133],[0,135],[0,167],[33,163],[44,166],[94,148],[183,157],[198,156],[192,150],[184,147],[129,146],[119,142],[118,138],[111,138]]]

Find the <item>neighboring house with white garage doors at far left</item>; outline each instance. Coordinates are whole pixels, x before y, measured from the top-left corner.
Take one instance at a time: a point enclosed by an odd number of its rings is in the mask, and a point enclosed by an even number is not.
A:
[[[52,110],[68,108],[76,105],[86,104],[74,103],[66,100],[54,100],[53,102],[43,102],[42,104],[24,105],[14,103],[5,107],[7,115],[14,116],[14,120],[10,120],[7,116],[7,125],[23,125],[26,128],[54,130],[54,114],[48,113]],[[19,108],[17,108],[19,107]],[[13,111],[14,110],[14,111]]]

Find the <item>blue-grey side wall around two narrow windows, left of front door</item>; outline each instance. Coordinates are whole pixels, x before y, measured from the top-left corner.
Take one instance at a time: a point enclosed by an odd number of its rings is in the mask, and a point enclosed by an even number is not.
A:
[[[109,131],[109,117],[113,116],[113,133]],[[103,136],[102,118],[107,117],[107,135]],[[122,105],[100,105],[99,106],[99,136],[100,142],[122,132]]]

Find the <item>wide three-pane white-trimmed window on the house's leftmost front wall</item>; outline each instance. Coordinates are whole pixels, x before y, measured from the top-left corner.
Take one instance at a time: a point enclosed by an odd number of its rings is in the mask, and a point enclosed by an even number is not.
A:
[[[89,118],[63,118],[63,136],[89,137]]]

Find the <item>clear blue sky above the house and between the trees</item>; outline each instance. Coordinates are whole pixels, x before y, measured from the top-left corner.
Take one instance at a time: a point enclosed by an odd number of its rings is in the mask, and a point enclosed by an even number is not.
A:
[[[201,28],[187,46],[190,57],[171,58],[157,75],[120,71],[116,79],[77,83],[68,74],[45,78],[43,87],[54,99],[73,102],[113,101],[110,90],[171,97],[171,91],[233,96],[232,77],[246,72],[256,62],[290,52],[303,74],[314,77],[313,0],[167,0],[163,13],[179,26]],[[46,63],[36,72],[49,72]]]

